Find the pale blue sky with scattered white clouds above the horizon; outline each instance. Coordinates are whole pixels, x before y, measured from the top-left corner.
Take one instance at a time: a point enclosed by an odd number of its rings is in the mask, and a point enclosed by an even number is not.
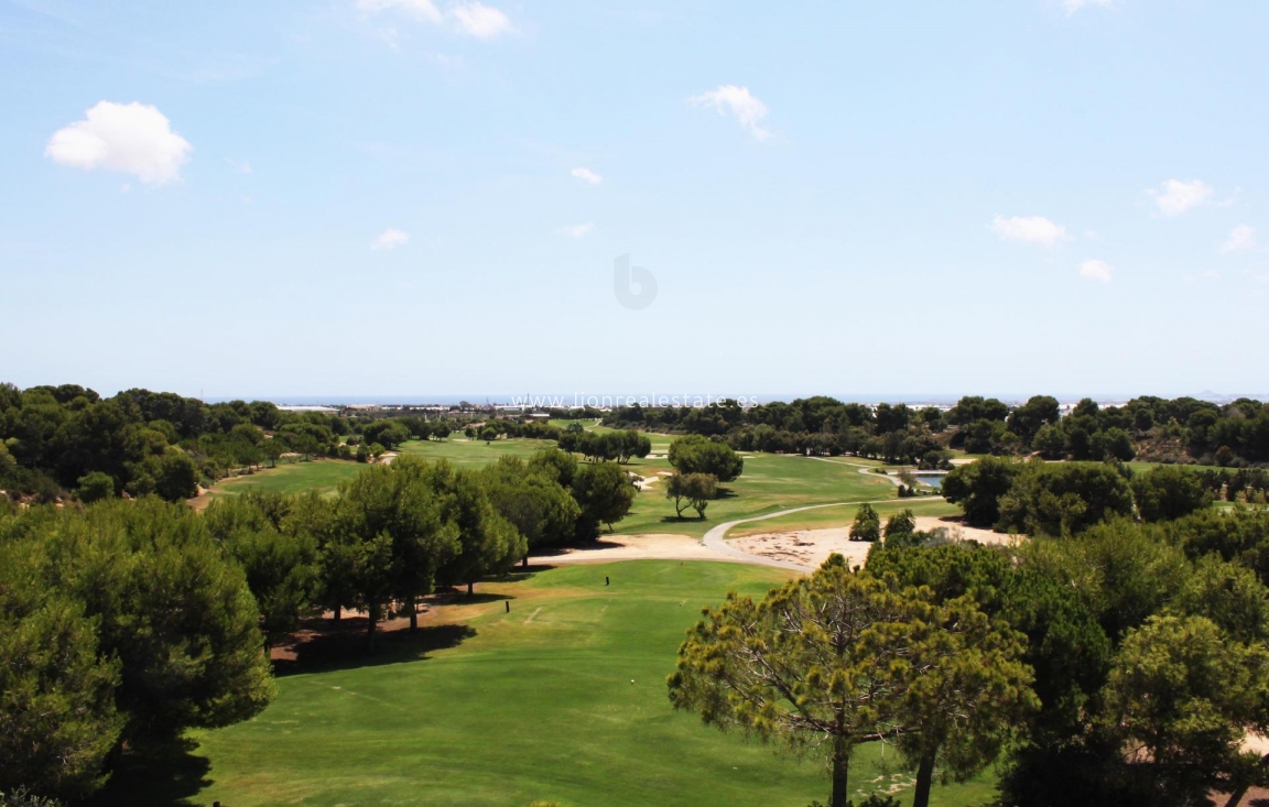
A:
[[[1265,30],[1253,0],[0,0],[0,379],[1269,392]]]

